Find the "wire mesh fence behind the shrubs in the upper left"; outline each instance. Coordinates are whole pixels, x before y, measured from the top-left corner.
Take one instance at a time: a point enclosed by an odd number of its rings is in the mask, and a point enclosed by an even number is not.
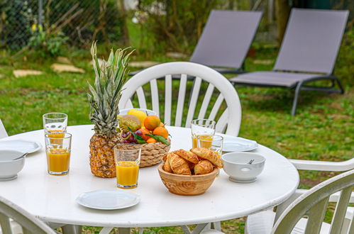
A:
[[[118,41],[120,12],[114,0],[0,0],[0,47],[23,48],[40,28],[72,45]]]

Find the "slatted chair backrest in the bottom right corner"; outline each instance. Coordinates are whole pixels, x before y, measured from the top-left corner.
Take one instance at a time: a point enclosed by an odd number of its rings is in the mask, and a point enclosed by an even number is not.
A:
[[[354,169],[317,184],[285,209],[275,223],[272,233],[291,233],[303,216],[308,216],[305,233],[319,233],[329,197],[337,191],[341,191],[341,196],[333,214],[331,233],[341,233],[353,189]],[[354,225],[349,233],[354,233]]]

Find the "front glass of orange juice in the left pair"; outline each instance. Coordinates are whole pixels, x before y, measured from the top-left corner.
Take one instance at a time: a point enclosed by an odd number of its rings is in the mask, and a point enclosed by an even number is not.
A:
[[[52,138],[50,134],[45,134],[45,152],[47,154],[48,173],[52,175],[63,175],[69,173],[70,133],[62,133],[62,138]]]

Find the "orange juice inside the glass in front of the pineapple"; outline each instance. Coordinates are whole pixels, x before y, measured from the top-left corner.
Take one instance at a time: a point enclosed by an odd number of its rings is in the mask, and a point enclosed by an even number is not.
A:
[[[136,165],[136,162],[117,162],[116,174],[118,187],[133,189],[138,186],[138,172],[139,165]]]

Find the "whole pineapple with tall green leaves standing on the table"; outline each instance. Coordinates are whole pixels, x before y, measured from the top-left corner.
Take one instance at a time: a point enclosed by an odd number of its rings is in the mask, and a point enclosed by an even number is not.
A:
[[[133,51],[116,50],[101,65],[97,59],[96,43],[92,44],[91,54],[94,62],[94,87],[89,84],[87,93],[90,104],[89,118],[94,123],[94,135],[90,148],[91,172],[97,177],[116,177],[114,165],[114,145],[119,143],[116,127],[118,124],[118,102],[125,84],[128,58]]]

